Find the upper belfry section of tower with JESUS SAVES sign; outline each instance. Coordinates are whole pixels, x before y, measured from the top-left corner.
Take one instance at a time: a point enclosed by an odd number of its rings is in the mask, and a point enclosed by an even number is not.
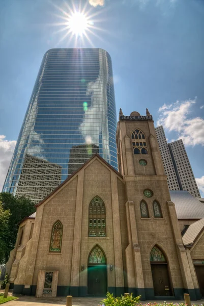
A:
[[[119,172],[126,175],[165,175],[152,115],[132,112],[124,116],[120,109],[116,142]]]

